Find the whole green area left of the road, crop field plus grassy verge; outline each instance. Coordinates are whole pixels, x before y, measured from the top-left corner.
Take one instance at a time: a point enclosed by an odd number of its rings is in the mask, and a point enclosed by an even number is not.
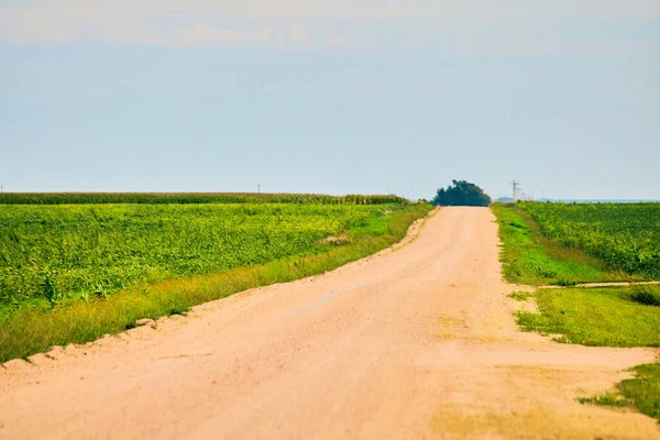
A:
[[[399,241],[432,208],[154,200],[0,205],[0,362],[333,270]]]

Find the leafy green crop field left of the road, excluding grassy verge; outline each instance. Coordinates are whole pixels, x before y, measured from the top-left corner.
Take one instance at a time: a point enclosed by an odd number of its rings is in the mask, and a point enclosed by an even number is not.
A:
[[[293,204],[4,206],[0,305],[107,297],[142,283],[314,254],[328,249],[322,239],[378,222],[385,212],[400,209]]]

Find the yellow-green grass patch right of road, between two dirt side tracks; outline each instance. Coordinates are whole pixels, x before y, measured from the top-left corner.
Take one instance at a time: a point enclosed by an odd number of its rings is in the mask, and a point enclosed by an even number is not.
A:
[[[660,346],[660,308],[635,302],[632,287],[541,289],[538,314],[518,312],[526,331],[560,334],[558,342]]]

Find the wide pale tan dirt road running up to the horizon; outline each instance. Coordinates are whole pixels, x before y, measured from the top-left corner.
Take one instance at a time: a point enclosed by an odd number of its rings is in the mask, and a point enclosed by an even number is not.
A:
[[[496,233],[443,209],[394,252],[13,361],[0,438],[660,438],[575,402],[657,351],[519,332]]]

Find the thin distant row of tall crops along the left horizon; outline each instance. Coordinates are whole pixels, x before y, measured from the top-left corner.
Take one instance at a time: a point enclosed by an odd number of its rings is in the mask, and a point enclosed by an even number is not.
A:
[[[100,204],[322,204],[408,205],[397,196],[327,196],[322,194],[255,193],[2,193],[0,205],[100,205]]]

